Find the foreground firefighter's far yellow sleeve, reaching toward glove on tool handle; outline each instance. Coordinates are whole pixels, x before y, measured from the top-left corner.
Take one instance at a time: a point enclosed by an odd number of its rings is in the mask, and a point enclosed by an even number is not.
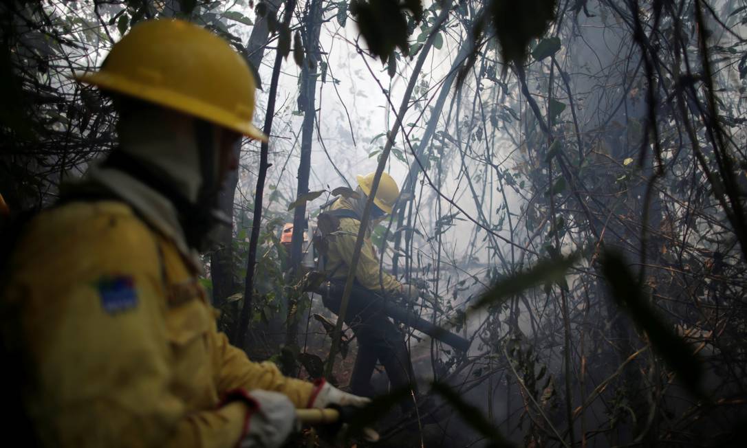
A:
[[[218,389],[230,391],[235,388],[263,389],[284,393],[297,408],[309,405],[314,385],[300,379],[283,376],[271,362],[255,363],[249,361],[241,349],[229,344],[223,333],[217,333],[217,346],[220,353],[220,379]]]

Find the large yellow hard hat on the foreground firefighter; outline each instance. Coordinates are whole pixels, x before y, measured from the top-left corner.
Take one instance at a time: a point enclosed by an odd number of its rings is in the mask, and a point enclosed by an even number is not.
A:
[[[252,125],[255,80],[247,61],[189,22],[140,22],[112,47],[99,72],[75,79],[267,141]]]

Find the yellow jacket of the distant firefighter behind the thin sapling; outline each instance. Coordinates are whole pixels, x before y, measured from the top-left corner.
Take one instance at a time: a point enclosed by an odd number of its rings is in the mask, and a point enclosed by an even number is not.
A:
[[[338,210],[339,208],[355,209],[350,201],[343,197],[340,197],[329,207],[330,210]],[[326,237],[328,249],[325,270],[332,273],[333,279],[344,279],[350,272],[349,267],[351,261],[353,261],[353,251],[356,248],[356,238],[360,228],[359,220],[341,218],[338,231]],[[356,267],[356,280],[370,290],[393,292],[402,289],[402,284],[394,276],[379,269],[379,261],[376,259],[376,252],[373,250],[373,243],[371,243],[371,231],[366,232],[363,241],[361,255]]]

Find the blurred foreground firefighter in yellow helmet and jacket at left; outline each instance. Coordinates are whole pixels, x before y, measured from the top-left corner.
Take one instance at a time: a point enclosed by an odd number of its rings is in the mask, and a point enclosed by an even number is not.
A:
[[[203,28],[158,20],[77,79],[112,96],[120,146],[28,223],[2,293],[39,442],[279,447],[295,408],[365,404],[249,361],[197,282],[235,147],[267,138],[247,63]]]

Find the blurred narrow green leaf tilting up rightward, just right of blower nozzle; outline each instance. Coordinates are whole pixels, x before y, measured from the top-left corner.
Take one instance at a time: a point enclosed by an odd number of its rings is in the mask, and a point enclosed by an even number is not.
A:
[[[534,267],[520,273],[512,274],[494,284],[474,305],[483,308],[489,305],[500,305],[506,299],[521,293],[530,287],[536,287],[548,281],[565,279],[565,273],[578,259],[578,255],[565,258],[548,258],[539,261]]]

